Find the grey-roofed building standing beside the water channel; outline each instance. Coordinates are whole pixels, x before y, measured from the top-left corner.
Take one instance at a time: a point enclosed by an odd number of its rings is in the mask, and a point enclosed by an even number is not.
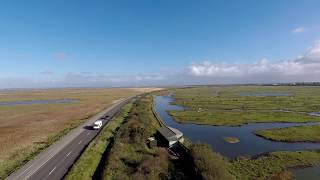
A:
[[[161,127],[157,129],[158,145],[172,147],[178,142],[183,142],[183,134],[172,127]]]

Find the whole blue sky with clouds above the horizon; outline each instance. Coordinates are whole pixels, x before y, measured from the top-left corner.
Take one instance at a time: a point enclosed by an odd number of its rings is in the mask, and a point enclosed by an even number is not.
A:
[[[319,19],[317,0],[3,0],[0,88],[318,81]]]

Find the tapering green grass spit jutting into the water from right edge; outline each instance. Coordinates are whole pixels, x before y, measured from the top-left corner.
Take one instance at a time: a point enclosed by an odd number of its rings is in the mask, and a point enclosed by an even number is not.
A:
[[[260,130],[255,134],[273,141],[320,142],[320,125]]]

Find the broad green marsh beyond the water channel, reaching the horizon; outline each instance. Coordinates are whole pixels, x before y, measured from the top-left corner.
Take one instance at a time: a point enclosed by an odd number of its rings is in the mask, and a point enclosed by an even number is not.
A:
[[[320,87],[232,86],[172,90],[184,111],[170,111],[181,123],[238,126],[257,122],[315,122],[320,117]],[[289,96],[241,96],[240,93],[288,93]],[[290,110],[281,112],[278,110]]]

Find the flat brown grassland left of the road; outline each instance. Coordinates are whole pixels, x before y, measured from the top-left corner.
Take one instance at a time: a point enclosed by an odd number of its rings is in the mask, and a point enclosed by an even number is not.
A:
[[[0,106],[0,179],[114,101],[140,93],[130,89],[1,91],[0,102],[77,99],[63,104]]]

